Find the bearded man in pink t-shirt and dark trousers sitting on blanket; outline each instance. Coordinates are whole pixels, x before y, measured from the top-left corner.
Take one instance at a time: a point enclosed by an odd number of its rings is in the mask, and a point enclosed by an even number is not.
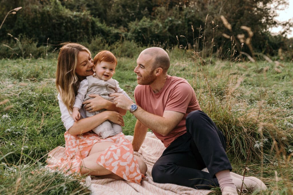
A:
[[[201,111],[190,84],[167,74],[169,66],[166,51],[158,47],[145,49],[134,69],[139,84],[134,90],[137,104],[122,94],[111,95],[116,96],[117,107],[137,118],[134,151],[139,150],[150,129],[166,146],[152,169],[154,182],[195,189],[220,186],[222,194],[238,194],[236,187],[241,188],[243,176],[230,174],[224,135]],[[209,172],[202,171],[205,167]],[[266,186],[255,177],[245,177],[243,188],[262,190]]]

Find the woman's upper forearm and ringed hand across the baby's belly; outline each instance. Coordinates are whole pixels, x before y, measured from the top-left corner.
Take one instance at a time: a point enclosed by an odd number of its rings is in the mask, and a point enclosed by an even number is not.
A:
[[[124,110],[122,108],[117,108],[116,104],[114,102],[106,100],[97,94],[90,94],[88,96],[93,97],[93,99],[86,100],[83,102],[83,104],[86,104],[84,109],[89,112],[94,112],[94,111],[99,111],[101,109],[106,109],[108,111],[116,111],[116,112],[120,113],[121,115],[126,114],[126,110]]]

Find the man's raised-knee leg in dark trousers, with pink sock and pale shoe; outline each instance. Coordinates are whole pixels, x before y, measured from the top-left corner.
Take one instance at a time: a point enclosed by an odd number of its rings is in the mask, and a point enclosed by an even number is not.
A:
[[[229,171],[232,169],[226,155],[226,140],[214,122],[202,111],[193,111],[186,118],[186,128],[194,141],[194,154],[202,156],[212,177],[216,176],[222,194],[237,194],[233,192],[235,186],[239,188],[242,182],[251,190],[264,190],[265,184],[256,177],[243,177]],[[236,176],[235,176],[236,175]],[[242,178],[241,178],[242,177]],[[244,187],[244,188],[245,188]]]

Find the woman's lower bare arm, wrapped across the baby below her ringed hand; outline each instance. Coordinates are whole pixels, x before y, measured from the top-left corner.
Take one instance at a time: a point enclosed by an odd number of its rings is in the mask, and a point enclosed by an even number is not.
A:
[[[118,125],[124,126],[122,115],[115,111],[104,111],[91,117],[82,118],[68,129],[69,134],[78,135],[92,130],[97,127],[105,120],[117,123]]]

